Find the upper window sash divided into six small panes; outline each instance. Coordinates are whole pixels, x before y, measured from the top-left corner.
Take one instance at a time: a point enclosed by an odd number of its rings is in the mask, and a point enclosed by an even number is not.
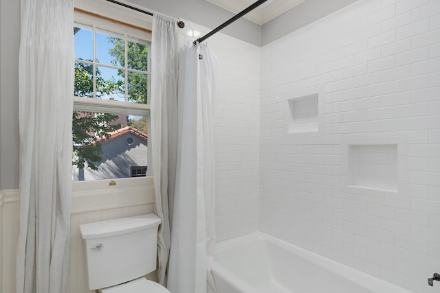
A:
[[[75,23],[75,96],[148,104],[146,40]]]

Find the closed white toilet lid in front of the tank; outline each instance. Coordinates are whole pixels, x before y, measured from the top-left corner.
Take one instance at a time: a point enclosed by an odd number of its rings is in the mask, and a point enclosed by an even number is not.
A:
[[[170,293],[159,283],[147,280],[144,277],[100,290],[101,293]]]

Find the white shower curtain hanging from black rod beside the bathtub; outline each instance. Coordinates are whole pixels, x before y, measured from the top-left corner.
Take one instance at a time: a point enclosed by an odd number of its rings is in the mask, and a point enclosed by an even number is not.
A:
[[[192,43],[179,56],[177,168],[168,289],[214,290],[214,55]],[[208,282],[208,283],[207,283]]]

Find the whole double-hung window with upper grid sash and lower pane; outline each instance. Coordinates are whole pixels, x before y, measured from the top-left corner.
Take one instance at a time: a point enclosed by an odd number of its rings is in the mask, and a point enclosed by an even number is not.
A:
[[[75,12],[74,181],[146,176],[151,34],[117,16]]]

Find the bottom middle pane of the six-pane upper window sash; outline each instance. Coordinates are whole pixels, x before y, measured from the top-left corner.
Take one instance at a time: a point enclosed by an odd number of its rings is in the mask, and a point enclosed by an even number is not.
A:
[[[96,67],[96,98],[125,101],[124,71],[109,67]]]

